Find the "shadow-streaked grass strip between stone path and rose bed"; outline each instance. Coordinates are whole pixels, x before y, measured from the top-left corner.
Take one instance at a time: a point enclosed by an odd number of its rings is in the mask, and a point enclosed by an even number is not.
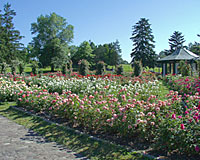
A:
[[[152,159],[141,154],[141,152],[131,152],[122,146],[104,141],[91,139],[88,135],[80,134],[75,130],[67,129],[64,126],[57,126],[43,119],[18,111],[11,106],[15,102],[1,103],[0,114],[8,119],[29,128],[49,141],[57,142],[67,146],[69,149],[90,159],[120,159],[120,160],[148,160]]]

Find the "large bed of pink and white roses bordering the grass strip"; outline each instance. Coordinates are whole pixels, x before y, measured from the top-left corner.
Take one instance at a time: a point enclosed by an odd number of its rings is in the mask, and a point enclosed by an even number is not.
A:
[[[169,152],[199,154],[198,93],[186,96],[184,106],[182,95],[175,91],[161,100],[158,81],[120,83],[102,77],[68,80],[55,76],[27,81],[28,87],[24,81],[2,78],[0,88],[7,99],[14,94],[11,99],[20,107],[62,118],[90,132],[117,135],[130,141],[145,140]]]

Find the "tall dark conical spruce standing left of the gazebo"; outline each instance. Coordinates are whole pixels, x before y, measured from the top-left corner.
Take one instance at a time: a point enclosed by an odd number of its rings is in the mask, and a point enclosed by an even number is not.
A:
[[[154,36],[148,21],[148,19],[141,18],[132,28],[133,33],[130,38],[134,47],[131,53],[132,65],[134,61],[141,61],[144,67],[154,67],[155,65]]]

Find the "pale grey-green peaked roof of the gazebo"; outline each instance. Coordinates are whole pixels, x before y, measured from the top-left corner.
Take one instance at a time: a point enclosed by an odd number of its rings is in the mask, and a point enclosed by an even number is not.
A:
[[[198,59],[199,56],[192,53],[191,51],[188,51],[185,48],[177,49],[174,53],[172,53],[169,56],[166,56],[164,58],[158,59],[158,62],[163,61],[180,61],[180,60],[195,60]]]

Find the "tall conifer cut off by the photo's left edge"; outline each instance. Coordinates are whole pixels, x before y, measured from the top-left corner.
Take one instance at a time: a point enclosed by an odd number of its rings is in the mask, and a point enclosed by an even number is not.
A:
[[[4,5],[4,13],[0,14],[0,61],[11,64],[13,60],[24,57],[24,47],[19,41],[23,38],[15,29],[13,18],[16,12],[9,3]]]

